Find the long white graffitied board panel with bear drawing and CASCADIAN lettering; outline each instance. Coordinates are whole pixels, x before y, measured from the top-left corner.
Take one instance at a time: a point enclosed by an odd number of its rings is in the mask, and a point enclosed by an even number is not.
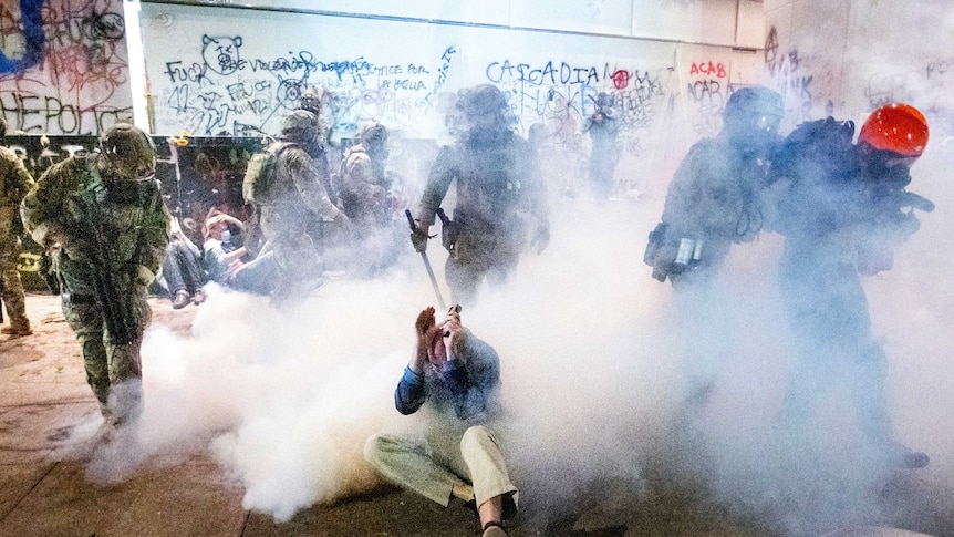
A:
[[[438,96],[479,83],[508,92],[520,128],[581,122],[600,91],[636,92],[643,114],[675,58],[668,43],[300,13],[143,4],[142,21],[155,130],[175,134],[276,133],[304,84],[331,92],[345,136],[374,117],[439,137]]]

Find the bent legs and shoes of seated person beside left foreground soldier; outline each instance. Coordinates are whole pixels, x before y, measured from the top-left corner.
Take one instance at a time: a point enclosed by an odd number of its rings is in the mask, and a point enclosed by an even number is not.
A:
[[[198,306],[206,301],[203,291],[206,271],[201,251],[185,236],[175,218],[170,220],[170,229],[169,245],[163,258],[162,279],[166,282],[174,309],[183,309],[189,302]]]

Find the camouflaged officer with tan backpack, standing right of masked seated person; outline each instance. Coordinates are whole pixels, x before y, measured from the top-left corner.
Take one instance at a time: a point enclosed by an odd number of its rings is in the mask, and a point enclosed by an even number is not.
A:
[[[282,137],[290,145],[278,154],[274,177],[261,200],[261,229],[274,251],[281,277],[274,291],[287,298],[308,280],[320,278],[322,262],[312,238],[315,224],[342,224],[348,217],[329,198],[326,172],[311,153],[320,144],[318,117],[298,110],[282,123]]]

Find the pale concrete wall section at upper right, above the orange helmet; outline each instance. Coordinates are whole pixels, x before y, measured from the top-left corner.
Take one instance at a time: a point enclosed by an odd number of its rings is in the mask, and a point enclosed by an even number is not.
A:
[[[945,0],[766,0],[769,84],[790,123],[863,121],[879,105],[921,109],[935,137],[954,131],[954,3]]]

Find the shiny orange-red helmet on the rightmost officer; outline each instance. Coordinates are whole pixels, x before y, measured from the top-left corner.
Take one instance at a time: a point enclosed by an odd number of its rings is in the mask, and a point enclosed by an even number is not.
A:
[[[868,116],[858,141],[875,149],[919,157],[927,145],[927,120],[909,104],[885,104]]]

